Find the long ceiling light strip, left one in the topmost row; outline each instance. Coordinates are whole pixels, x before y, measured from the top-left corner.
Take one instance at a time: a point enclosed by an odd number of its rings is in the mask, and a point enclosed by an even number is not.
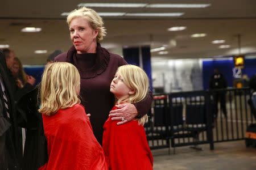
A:
[[[141,8],[147,3],[79,3],[79,7]]]

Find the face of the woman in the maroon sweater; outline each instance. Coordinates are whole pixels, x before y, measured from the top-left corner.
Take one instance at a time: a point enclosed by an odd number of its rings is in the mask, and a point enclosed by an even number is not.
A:
[[[74,18],[69,24],[70,37],[77,53],[96,53],[98,31],[90,27],[89,22],[82,17]]]

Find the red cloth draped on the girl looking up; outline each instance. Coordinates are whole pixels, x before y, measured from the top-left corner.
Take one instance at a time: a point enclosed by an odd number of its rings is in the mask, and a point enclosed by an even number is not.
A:
[[[109,169],[152,169],[153,157],[144,127],[135,120],[123,125],[117,122],[108,118],[104,124],[103,149]]]

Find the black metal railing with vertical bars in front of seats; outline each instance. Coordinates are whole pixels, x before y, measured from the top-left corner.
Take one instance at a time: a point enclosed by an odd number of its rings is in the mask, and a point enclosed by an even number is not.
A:
[[[255,122],[247,101],[249,88],[154,95],[148,124],[150,147],[197,146],[245,139]]]

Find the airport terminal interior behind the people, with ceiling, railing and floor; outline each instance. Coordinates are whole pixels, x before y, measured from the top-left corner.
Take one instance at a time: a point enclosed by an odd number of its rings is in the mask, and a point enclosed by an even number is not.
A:
[[[47,59],[72,46],[67,16],[83,6],[104,21],[101,46],[150,80],[154,169],[256,169],[256,1],[2,0],[0,49],[40,83]]]

